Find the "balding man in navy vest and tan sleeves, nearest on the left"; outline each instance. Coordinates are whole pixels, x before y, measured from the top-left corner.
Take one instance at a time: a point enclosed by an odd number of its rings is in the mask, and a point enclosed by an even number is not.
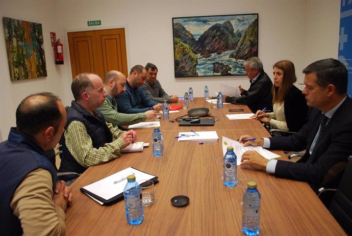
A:
[[[45,156],[64,132],[66,111],[52,93],[24,98],[0,143],[0,235],[65,235],[70,187]]]

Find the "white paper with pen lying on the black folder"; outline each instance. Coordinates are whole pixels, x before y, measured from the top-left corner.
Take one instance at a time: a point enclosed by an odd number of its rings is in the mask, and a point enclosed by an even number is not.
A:
[[[117,196],[118,194],[123,193],[123,189],[127,184],[127,176],[131,174],[134,174],[136,176],[136,181],[143,180],[143,179],[152,179],[155,177],[154,175],[150,175],[142,171],[136,170],[132,167],[129,167],[115,174],[112,174],[106,178],[93,182],[90,185],[83,187],[83,189],[105,200],[109,200]],[[90,197],[96,200],[94,197],[92,196]],[[97,202],[103,205],[103,202],[101,201],[97,201]]]

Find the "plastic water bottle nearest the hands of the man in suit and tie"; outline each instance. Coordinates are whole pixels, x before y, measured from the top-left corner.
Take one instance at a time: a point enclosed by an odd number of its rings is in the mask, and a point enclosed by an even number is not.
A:
[[[237,155],[234,147],[228,147],[227,150],[223,156],[223,184],[234,187],[237,184]]]

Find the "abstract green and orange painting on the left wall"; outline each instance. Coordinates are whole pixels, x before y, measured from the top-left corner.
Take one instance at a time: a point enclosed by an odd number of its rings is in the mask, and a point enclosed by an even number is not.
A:
[[[3,21],[11,81],[45,77],[42,25],[8,17]]]

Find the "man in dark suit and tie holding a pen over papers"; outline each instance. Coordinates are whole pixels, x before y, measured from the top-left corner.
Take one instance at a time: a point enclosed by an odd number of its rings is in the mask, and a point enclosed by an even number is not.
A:
[[[244,146],[263,146],[275,150],[303,150],[306,154],[297,163],[267,160],[256,151],[242,155],[241,166],[266,170],[277,177],[320,186],[337,187],[339,176],[352,154],[352,99],[347,92],[346,67],[335,59],[324,59],[303,70],[307,104],[312,107],[309,121],[297,134],[289,137],[263,138],[240,142]],[[299,116],[300,114],[297,114]]]

